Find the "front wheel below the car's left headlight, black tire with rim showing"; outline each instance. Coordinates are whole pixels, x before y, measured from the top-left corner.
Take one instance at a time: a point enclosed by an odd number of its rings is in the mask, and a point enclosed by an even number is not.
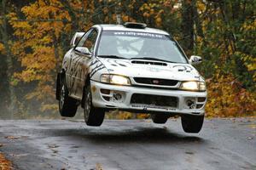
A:
[[[105,111],[92,105],[90,84],[84,88],[84,122],[88,126],[99,127],[104,120]]]

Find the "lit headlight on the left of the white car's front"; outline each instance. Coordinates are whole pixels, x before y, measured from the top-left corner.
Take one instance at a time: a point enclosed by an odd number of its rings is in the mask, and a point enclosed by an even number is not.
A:
[[[123,77],[119,75],[103,74],[101,77],[101,82],[107,82],[118,85],[131,85],[131,81],[128,77]]]

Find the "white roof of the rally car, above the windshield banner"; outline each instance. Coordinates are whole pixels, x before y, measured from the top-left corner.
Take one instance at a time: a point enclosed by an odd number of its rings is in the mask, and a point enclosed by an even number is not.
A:
[[[123,25],[96,25],[96,27],[99,26],[101,27],[102,31],[139,31],[139,32],[148,32],[148,33],[155,33],[155,34],[164,34],[168,35],[169,34],[166,31],[162,31],[159,29],[155,28],[128,28]]]

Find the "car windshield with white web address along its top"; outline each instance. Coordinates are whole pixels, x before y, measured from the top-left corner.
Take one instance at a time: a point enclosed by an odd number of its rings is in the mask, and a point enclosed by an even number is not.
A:
[[[188,63],[169,36],[138,31],[102,31],[97,56]]]

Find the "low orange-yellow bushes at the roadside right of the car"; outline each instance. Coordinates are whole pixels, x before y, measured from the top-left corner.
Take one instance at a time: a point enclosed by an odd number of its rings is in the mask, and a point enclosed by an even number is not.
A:
[[[232,75],[219,71],[207,80],[207,116],[244,116],[256,114],[256,93],[242,88]]]

